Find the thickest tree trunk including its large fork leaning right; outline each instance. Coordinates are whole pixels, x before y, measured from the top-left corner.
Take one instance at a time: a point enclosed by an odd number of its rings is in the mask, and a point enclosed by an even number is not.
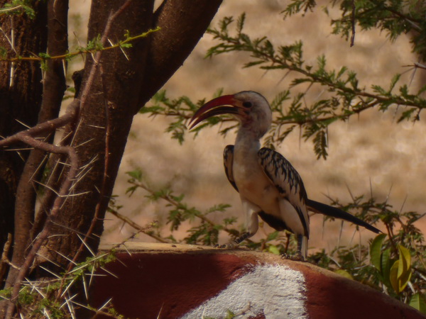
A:
[[[124,2],[92,1],[89,40],[104,33],[109,15]],[[66,264],[56,252],[71,257],[82,245],[81,238],[87,234],[93,218],[96,224],[89,234],[89,245],[97,249],[134,114],[182,65],[221,2],[202,1],[198,6],[188,6],[185,1],[164,1],[153,13],[153,1],[133,1],[114,21],[108,36],[112,43],[122,40],[126,30],[131,35],[156,26],[161,30],[136,40],[131,49],[124,49],[126,55],[121,50],[102,52],[90,94],[80,96],[87,100],[82,105],[72,145],[77,148],[82,166],[90,169],[86,168],[89,172],[73,188],[74,194],[82,195],[67,199],[62,208],[58,225],[53,230],[62,236],[51,237],[43,249],[48,259]],[[89,76],[87,70],[93,64],[92,57],[88,57],[80,91],[84,91]],[[86,251],[84,255],[87,254]]]

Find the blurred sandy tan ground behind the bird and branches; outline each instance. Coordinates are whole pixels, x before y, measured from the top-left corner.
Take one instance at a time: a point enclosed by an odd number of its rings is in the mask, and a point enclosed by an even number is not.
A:
[[[70,6],[71,48],[86,39],[82,32],[87,26],[89,0],[72,0]],[[329,69],[339,69],[343,65],[354,70],[360,79],[361,86],[369,88],[371,84],[388,87],[395,73],[404,73],[400,84],[410,84],[415,91],[421,86],[420,72],[413,74],[405,65],[413,65],[417,57],[410,52],[409,40],[401,36],[391,43],[386,33],[376,30],[361,33],[357,28],[355,46],[337,35],[330,35],[329,18],[322,12],[321,6],[328,1],[317,1],[318,8],[314,13],[307,13],[305,18],[293,16],[283,21],[283,11],[288,1],[280,0],[225,0],[212,26],[224,16],[239,16],[246,12],[244,32],[253,38],[267,35],[278,45],[288,45],[295,40],[304,43],[304,58],[307,64],[315,65],[318,55],[327,57]],[[231,30],[234,30],[231,27]],[[73,36],[72,33],[75,35]],[[212,97],[214,91],[224,89],[224,94],[237,91],[258,91],[271,101],[280,91],[286,89],[290,77],[281,81],[283,72],[264,72],[256,67],[241,69],[249,56],[242,53],[231,53],[206,60],[204,55],[209,47],[216,44],[211,35],[204,35],[184,65],[165,85],[170,98],[181,95],[189,96],[192,101]],[[81,62],[75,63],[70,74],[81,68]],[[321,89],[310,91],[312,99]],[[120,213],[133,219],[140,225],[152,220],[166,222],[168,209],[165,203],[151,203],[142,190],[129,198],[125,194],[127,179],[125,173],[136,168],[143,169],[154,188],[171,186],[175,194],[185,193],[185,201],[190,206],[205,209],[216,203],[230,203],[227,214],[239,216],[241,204],[239,196],[227,181],[222,164],[222,151],[225,145],[233,144],[235,135],[231,133],[222,138],[217,128],[205,129],[194,140],[192,134],[187,135],[184,145],[171,140],[165,133],[167,118],[148,118],[137,115],[134,118],[131,135],[126,152],[121,162],[119,177],[116,180],[114,194],[118,195],[118,204],[122,205]],[[304,179],[310,198],[329,203],[325,195],[339,198],[342,203],[350,201],[352,194],[373,196],[383,200],[389,195],[389,203],[395,209],[424,211],[424,185],[426,168],[422,156],[426,154],[425,121],[415,123],[395,123],[395,113],[388,111],[379,113],[367,111],[359,118],[352,118],[348,123],[334,123],[329,128],[329,157],[326,161],[317,160],[313,152],[312,141],[300,139],[299,131],[290,135],[278,148],[292,162]],[[347,186],[347,187],[346,187]],[[224,218],[224,213],[215,213],[217,220]],[[211,216],[213,218],[213,216]],[[242,223],[243,220],[240,220]],[[322,226],[322,216],[311,218],[310,247],[332,249],[337,245],[340,222],[327,223]],[[426,229],[422,220],[417,227]],[[379,228],[380,225],[379,225]],[[163,227],[163,235],[169,235],[169,225]],[[187,229],[187,225],[182,228]],[[265,226],[268,230],[268,226]],[[354,227],[344,223],[344,240],[347,244],[354,234]],[[117,221],[107,213],[103,242],[118,242],[133,233],[133,228]],[[175,237],[185,237],[185,233],[173,233]],[[256,235],[264,237],[259,231]],[[361,237],[371,237],[368,231],[362,230]],[[355,236],[356,240],[359,235]],[[146,235],[138,235],[137,240],[152,241]],[[227,238],[222,238],[226,242]],[[355,241],[356,241],[355,240]]]

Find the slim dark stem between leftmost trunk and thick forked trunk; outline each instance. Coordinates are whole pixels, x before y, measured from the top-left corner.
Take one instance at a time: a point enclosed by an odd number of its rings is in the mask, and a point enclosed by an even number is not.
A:
[[[68,1],[48,2],[48,52],[58,55],[67,52],[67,13]],[[65,62],[48,61],[48,69],[43,79],[43,100],[38,115],[38,123],[57,118],[65,92]],[[48,135],[50,134],[50,138]],[[53,132],[45,133],[40,137],[53,140]],[[37,181],[43,173],[45,165],[45,152],[32,150],[28,157],[21,179],[16,191],[15,203],[15,235],[13,245],[12,263],[21,267],[26,258],[26,248],[31,242],[31,226],[33,225],[35,209],[35,187],[33,181]],[[12,283],[16,277],[16,270],[11,269],[7,282]],[[7,285],[6,285],[7,288]]]

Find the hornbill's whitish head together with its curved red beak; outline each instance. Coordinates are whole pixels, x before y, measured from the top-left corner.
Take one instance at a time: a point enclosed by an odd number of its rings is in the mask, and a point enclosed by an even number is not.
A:
[[[268,101],[257,92],[241,91],[236,94],[219,96],[205,103],[192,116],[190,128],[201,121],[220,114],[233,114],[241,128],[261,138],[272,123],[272,112]]]

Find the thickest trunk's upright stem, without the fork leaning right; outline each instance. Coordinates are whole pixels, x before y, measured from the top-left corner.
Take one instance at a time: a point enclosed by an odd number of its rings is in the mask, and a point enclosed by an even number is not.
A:
[[[129,9],[124,10],[123,4]],[[126,32],[146,34],[151,27],[152,6],[146,1],[141,5],[138,1],[94,0],[88,38],[100,34],[105,45],[117,43]],[[139,37],[131,48],[102,50],[87,58],[79,94],[82,100],[79,122],[74,132],[69,132],[72,138],[67,138],[67,142],[77,148],[84,167],[72,191],[84,196],[65,203],[60,220],[52,230],[62,236],[49,237],[36,264],[51,260],[56,265],[45,262],[45,267],[62,272],[70,262],[63,255],[71,254],[71,258],[81,260],[89,254],[87,247],[97,249],[104,213],[142,87],[144,52],[150,37]],[[45,203],[43,198],[41,213],[48,212],[50,206],[51,201]],[[82,237],[76,234],[83,234],[86,245],[82,245]]]

